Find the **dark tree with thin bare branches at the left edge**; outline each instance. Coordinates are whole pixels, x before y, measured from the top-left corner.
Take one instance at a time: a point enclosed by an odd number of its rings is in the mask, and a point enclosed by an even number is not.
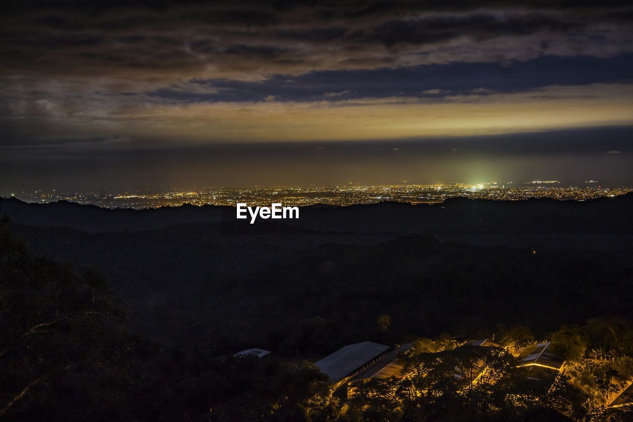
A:
[[[125,392],[139,354],[103,278],[37,259],[0,222],[0,419],[127,419]],[[60,386],[63,386],[61,388]],[[97,406],[97,403],[107,406]]]

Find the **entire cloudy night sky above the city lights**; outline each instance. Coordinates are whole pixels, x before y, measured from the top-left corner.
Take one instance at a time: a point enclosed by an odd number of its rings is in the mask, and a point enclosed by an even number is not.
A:
[[[3,1],[0,195],[633,185],[630,1]]]

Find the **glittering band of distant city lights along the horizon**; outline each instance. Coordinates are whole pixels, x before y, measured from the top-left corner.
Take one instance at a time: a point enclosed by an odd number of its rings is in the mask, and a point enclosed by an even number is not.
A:
[[[64,193],[53,191],[23,191],[11,194],[23,201],[48,203],[66,200],[92,204],[104,208],[158,208],[191,205],[230,205],[239,202],[248,205],[283,205],[304,207],[307,205],[356,205],[381,201],[411,204],[439,203],[447,198],[462,196],[472,199],[518,201],[529,198],[554,198],[556,200],[585,201],[603,196],[625,195],[633,191],[629,187],[604,187],[597,181],[561,182],[489,182],[482,184],[393,184],[361,186],[310,186],[305,188],[201,188],[189,189],[154,186],[152,188],[116,192],[108,188],[91,192]]]

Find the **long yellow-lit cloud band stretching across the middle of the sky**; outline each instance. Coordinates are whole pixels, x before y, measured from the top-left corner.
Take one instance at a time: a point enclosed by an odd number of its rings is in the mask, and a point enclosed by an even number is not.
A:
[[[56,112],[42,117],[20,111],[22,114],[0,117],[0,127],[10,129],[0,139],[5,145],[16,145],[116,135],[120,141],[111,146],[120,148],[128,145],[127,139],[154,139],[168,145],[354,141],[630,125],[633,84],[549,86],[518,93],[452,96],[442,101],[368,97],[126,105],[115,100],[98,105],[78,114]],[[149,143],[146,148],[154,146]]]

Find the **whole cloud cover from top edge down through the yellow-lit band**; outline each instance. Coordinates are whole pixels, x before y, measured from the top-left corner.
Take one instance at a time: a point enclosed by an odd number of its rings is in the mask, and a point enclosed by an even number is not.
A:
[[[626,84],[539,87],[630,78],[630,61],[616,60],[633,53],[629,2],[431,3],[4,2],[0,142],[354,139],[630,122]],[[565,58],[594,60],[594,72],[576,78],[567,65],[544,80],[534,77],[541,68],[525,71],[534,61],[572,63]]]

